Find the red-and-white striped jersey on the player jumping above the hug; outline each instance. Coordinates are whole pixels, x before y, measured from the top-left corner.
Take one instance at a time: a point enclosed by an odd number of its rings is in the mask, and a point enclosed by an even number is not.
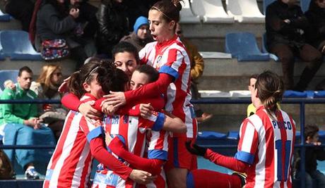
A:
[[[142,63],[153,66],[160,73],[167,73],[175,81],[167,88],[165,110],[181,118],[187,125],[187,137],[196,138],[197,126],[191,109],[191,63],[184,44],[175,35],[171,40],[158,44],[151,42],[139,52]],[[184,136],[173,134],[174,137]]]

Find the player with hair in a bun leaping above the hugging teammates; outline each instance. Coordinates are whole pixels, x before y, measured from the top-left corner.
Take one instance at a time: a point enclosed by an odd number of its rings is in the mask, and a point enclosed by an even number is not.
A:
[[[156,42],[147,44],[140,52],[141,63],[159,70],[159,79],[135,91],[108,96],[107,105],[135,104],[138,99],[164,94],[165,111],[181,118],[187,125],[187,134],[172,134],[167,164],[167,181],[170,187],[186,187],[188,170],[196,168],[196,156],[185,148],[187,139],[196,138],[196,120],[191,116],[189,89],[191,63],[184,45],[175,35],[182,5],[177,0],[158,1],[149,11],[149,30]]]

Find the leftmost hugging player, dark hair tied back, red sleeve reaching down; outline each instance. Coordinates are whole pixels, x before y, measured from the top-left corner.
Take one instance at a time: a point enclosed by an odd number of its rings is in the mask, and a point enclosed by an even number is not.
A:
[[[124,90],[124,84],[129,79],[123,72],[120,73],[109,63],[90,62],[71,75],[70,92],[82,96],[81,101],[87,102],[95,101],[105,94],[103,85],[109,91]],[[108,81],[102,82],[102,80]],[[88,187],[93,157],[110,167],[124,180],[128,177],[140,183],[153,180],[150,178],[150,173],[132,170],[114,158],[106,150],[104,139],[99,137],[96,130],[98,128],[86,120],[81,113],[69,112],[57,147],[47,166],[43,187]]]

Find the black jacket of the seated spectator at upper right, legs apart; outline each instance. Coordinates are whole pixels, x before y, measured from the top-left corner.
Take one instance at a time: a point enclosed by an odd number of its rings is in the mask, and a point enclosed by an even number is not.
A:
[[[265,19],[268,47],[278,43],[293,46],[305,43],[308,20],[300,6],[288,6],[281,0],[274,1],[266,8]],[[285,19],[290,20],[290,23],[285,23]]]

